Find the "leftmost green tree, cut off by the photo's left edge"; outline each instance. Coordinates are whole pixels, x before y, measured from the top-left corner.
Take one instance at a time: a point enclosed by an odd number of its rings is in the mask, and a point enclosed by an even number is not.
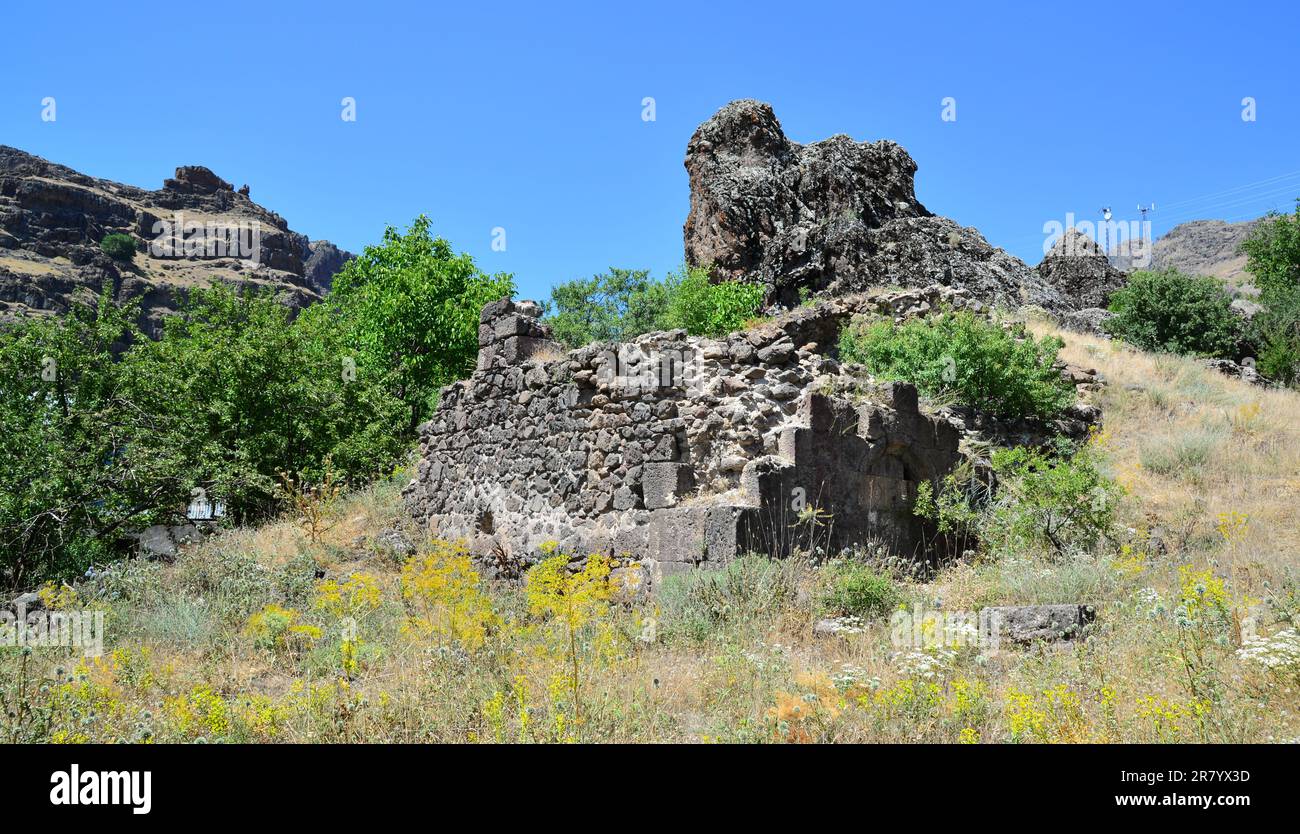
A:
[[[0,582],[83,572],[129,525],[179,490],[177,460],[136,443],[150,400],[124,390],[113,351],[139,338],[135,310],[105,295],[62,318],[0,331]]]

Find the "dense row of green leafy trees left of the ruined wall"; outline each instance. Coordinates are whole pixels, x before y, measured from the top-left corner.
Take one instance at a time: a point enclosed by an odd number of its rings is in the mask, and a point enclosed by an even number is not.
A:
[[[107,295],[0,330],[0,582],[121,553],[196,487],[248,521],[282,505],[283,473],[391,470],[438,387],[473,368],[478,312],[511,282],[433,240],[421,217],[335,288],[296,318],[270,295],[196,290],[157,342]]]

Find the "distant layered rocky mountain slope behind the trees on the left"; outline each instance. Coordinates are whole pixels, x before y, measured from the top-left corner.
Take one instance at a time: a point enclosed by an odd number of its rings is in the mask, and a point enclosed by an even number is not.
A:
[[[100,249],[112,233],[135,239],[129,262]],[[160,234],[177,246],[151,246]],[[348,257],[292,231],[247,187],[237,191],[207,168],[178,168],[150,191],[0,145],[0,321],[65,313],[107,287],[120,303],[138,300],[140,326],[156,336],[191,287],[270,288],[302,308],[328,291]]]

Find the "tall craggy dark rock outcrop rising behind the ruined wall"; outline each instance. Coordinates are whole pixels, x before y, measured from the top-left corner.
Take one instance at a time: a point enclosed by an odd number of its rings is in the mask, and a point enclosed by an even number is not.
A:
[[[732,101],[686,147],[686,261],[715,279],[768,288],[792,304],[871,287],[962,287],[982,301],[1049,310],[1075,307],[975,229],[916,200],[916,164],[888,140],[837,135],[801,145],[772,108]]]

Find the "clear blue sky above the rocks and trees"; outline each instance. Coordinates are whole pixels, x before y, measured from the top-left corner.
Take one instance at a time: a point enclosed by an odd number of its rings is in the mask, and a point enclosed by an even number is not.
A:
[[[422,212],[521,296],[675,268],[686,140],[740,97],[797,142],[900,142],[931,210],[1031,264],[1067,212],[1154,201],[1160,234],[1300,196],[1294,0],[25,5],[0,143],[150,188],[207,165],[352,251]]]

